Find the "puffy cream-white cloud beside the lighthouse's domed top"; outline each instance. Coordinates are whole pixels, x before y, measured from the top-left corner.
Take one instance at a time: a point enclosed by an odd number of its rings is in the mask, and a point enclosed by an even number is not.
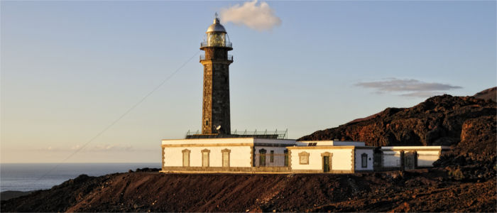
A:
[[[275,16],[273,9],[263,1],[257,4],[257,0],[223,8],[219,15],[223,23],[232,22],[256,31],[270,31],[275,26],[281,25],[281,19]]]

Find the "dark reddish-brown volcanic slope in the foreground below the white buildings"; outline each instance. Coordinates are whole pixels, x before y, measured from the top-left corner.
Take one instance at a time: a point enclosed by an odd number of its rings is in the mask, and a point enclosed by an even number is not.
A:
[[[454,174],[437,168],[355,175],[81,175],[4,201],[1,212],[496,211],[493,178]]]

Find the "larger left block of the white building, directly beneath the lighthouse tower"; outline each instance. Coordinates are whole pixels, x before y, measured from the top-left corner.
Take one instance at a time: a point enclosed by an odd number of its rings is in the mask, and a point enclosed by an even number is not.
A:
[[[287,147],[295,140],[195,138],[163,140],[163,172],[290,172]]]

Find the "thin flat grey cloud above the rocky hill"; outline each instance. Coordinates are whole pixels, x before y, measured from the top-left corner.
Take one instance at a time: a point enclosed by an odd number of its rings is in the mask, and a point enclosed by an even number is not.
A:
[[[434,95],[442,94],[442,91],[462,88],[459,86],[452,86],[451,84],[422,82],[414,79],[401,80],[394,77],[380,81],[359,82],[356,86],[376,89],[375,92],[378,94],[393,92],[400,93],[401,96],[406,97],[432,97]]]

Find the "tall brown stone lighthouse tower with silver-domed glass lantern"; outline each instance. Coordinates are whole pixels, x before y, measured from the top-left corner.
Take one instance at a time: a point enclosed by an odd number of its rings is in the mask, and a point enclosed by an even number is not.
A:
[[[228,51],[233,48],[217,14],[206,34],[206,39],[200,43],[200,50],[205,52],[200,55],[200,63],[204,65],[202,134],[229,135],[229,65],[233,56],[228,55]]]

